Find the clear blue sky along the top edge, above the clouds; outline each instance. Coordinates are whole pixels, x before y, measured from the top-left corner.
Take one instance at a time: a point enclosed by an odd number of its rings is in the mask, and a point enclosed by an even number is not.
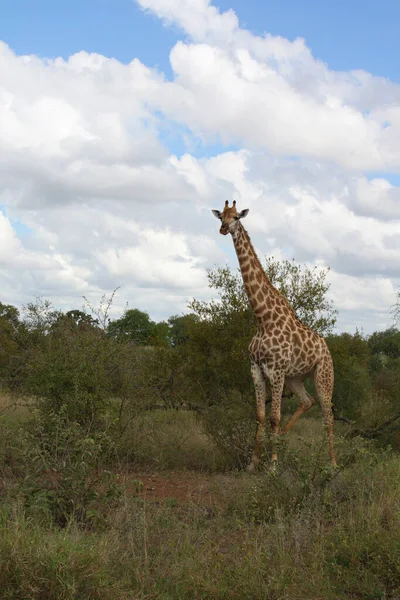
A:
[[[219,0],[243,27],[304,37],[332,69],[365,69],[400,82],[400,2],[396,0]],[[18,54],[67,57],[79,50],[134,57],[170,75],[180,37],[131,0],[0,0],[0,39]]]

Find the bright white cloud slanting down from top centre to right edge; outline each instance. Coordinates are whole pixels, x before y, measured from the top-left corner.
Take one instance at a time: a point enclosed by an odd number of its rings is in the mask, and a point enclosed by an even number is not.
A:
[[[259,37],[206,0],[138,0],[191,38],[171,51],[174,81],[157,105],[198,135],[352,169],[398,169],[400,86],[336,73],[304,40]]]

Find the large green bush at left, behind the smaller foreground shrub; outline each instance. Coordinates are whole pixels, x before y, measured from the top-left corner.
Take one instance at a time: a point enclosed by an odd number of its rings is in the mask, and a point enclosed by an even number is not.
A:
[[[120,359],[117,342],[80,311],[63,315],[50,303],[28,305],[9,386],[44,412],[63,410],[87,428],[104,416]]]

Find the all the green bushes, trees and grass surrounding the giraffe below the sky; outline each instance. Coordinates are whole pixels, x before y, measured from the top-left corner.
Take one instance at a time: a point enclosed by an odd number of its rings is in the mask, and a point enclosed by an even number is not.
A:
[[[0,303],[2,599],[400,597],[398,322],[336,334],[326,271],[265,268],[331,349],[336,470],[318,406],[276,472],[268,436],[264,467],[244,470],[254,320],[238,273],[211,271],[217,298],[162,323],[110,319],[112,297]],[[295,406],[285,395],[284,419]]]

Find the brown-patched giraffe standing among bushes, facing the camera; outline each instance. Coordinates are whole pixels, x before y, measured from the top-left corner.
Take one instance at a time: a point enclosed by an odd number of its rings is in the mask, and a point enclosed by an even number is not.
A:
[[[293,392],[299,407],[281,433],[289,431],[296,421],[314,404],[314,398],[304,387],[312,378],[321,405],[324,426],[328,434],[331,463],[337,466],[333,442],[333,362],[325,340],[304,325],[293,308],[272,285],[241,223],[249,210],[236,209],[236,200],[229,207],[226,200],[223,211],[212,210],[221,220],[220,233],[232,235],[239,260],[244,287],[257,320],[257,332],[249,345],[251,374],[256,394],[257,430],[248,470],[254,471],[260,462],[260,448],[265,425],[266,379],[271,384],[272,403],[270,424],[272,430],[271,462],[278,460],[277,439],[281,420],[283,388]]]

